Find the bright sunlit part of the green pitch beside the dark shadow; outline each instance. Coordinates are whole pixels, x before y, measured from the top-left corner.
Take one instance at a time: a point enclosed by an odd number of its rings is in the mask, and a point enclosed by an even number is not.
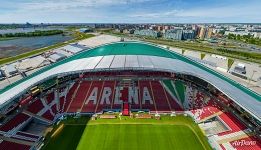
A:
[[[190,128],[183,125],[90,125],[77,150],[201,150]]]

